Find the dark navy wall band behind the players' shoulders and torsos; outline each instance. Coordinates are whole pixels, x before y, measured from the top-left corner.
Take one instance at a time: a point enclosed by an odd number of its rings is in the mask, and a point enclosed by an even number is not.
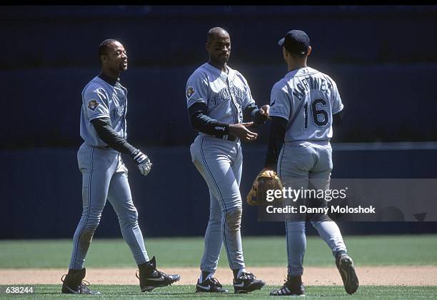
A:
[[[199,64],[205,60],[200,59]],[[232,64],[248,80],[258,104],[268,104],[273,84],[286,74],[284,64]],[[128,87],[129,141],[145,146],[189,144],[195,136],[186,110],[185,85],[197,65],[132,66],[121,83]],[[337,82],[345,106],[335,140],[436,141],[436,64],[314,66]],[[74,147],[81,143],[81,90],[93,68],[37,68],[1,71],[4,122],[0,147]],[[18,121],[19,120],[19,121]],[[268,131],[259,130],[266,142]]]

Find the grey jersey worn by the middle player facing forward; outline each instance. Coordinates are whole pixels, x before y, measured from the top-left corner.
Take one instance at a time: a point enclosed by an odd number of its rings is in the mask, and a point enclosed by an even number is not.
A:
[[[243,122],[243,110],[255,103],[246,79],[228,66],[228,74],[209,63],[191,74],[186,83],[187,106],[206,104],[209,117],[228,124]]]

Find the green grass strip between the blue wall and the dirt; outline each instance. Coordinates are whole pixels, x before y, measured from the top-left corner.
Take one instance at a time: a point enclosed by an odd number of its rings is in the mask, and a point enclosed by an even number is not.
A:
[[[437,265],[437,235],[345,236],[348,252],[361,266]],[[146,239],[149,256],[159,266],[199,266],[204,241],[201,237]],[[71,240],[0,240],[0,268],[65,268]],[[244,237],[248,266],[286,266],[284,236]],[[219,266],[227,266],[221,252]],[[332,266],[328,246],[318,236],[308,236],[306,266]],[[93,240],[86,257],[88,267],[134,266],[131,251],[122,239]]]

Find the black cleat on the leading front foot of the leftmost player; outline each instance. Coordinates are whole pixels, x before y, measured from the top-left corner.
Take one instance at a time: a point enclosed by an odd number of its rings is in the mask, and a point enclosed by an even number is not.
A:
[[[140,281],[141,291],[151,291],[156,287],[169,286],[181,279],[179,274],[167,275],[156,269],[155,256],[144,264],[139,264],[139,270],[136,270],[136,278]]]

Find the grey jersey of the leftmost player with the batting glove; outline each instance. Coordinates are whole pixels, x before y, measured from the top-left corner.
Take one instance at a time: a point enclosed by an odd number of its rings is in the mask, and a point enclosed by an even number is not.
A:
[[[94,77],[82,91],[81,137],[90,146],[108,146],[96,133],[91,121],[111,119],[116,134],[127,139],[127,89],[119,82],[112,86],[99,76]]]

